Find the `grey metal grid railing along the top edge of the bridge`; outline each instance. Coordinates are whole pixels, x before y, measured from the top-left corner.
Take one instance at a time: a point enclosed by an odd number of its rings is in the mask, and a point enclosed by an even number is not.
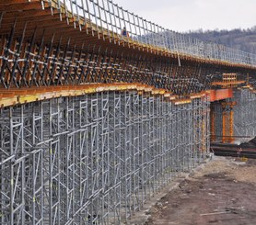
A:
[[[111,0],[47,0],[47,2],[50,6],[57,6],[60,14],[63,12],[66,15],[71,14],[75,18],[74,23],[78,22],[79,27],[93,28],[91,29],[93,35],[95,32],[103,33],[106,30],[111,41],[116,41],[113,37],[118,36],[119,41],[133,39],[166,51],[179,52],[200,59],[256,66],[256,54],[163,28],[123,9]],[[84,21],[84,24],[81,24],[80,20]],[[122,36],[122,28],[127,29],[129,39]]]

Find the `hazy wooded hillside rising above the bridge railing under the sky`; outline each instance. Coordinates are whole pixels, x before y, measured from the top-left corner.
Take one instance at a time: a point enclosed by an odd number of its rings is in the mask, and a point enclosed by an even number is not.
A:
[[[248,29],[190,31],[192,37],[213,41],[231,48],[256,53],[256,26]]]

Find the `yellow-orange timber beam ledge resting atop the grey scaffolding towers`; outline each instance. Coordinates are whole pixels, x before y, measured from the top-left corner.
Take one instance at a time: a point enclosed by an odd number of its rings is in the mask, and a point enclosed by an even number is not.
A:
[[[141,94],[148,93],[149,95],[160,95],[165,100],[173,101],[175,105],[189,104],[192,99],[196,97],[204,97],[205,93],[197,96],[189,96],[186,99],[177,99],[178,96],[173,95],[164,89],[155,88],[146,84],[80,84],[54,87],[31,87],[24,90],[0,89],[0,107],[10,107],[18,104],[25,104],[29,102],[41,101],[61,96],[83,96],[87,94],[105,92],[105,91],[132,91],[135,90]]]

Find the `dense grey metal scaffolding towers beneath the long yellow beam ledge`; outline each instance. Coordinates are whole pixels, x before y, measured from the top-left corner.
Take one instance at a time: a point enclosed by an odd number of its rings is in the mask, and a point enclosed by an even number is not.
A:
[[[209,146],[208,105],[102,92],[2,108],[1,224],[120,224]]]

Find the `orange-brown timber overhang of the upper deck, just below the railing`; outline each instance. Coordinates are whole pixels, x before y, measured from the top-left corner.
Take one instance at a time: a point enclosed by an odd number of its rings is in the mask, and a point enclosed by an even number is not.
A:
[[[74,12],[72,13],[63,3],[57,0],[5,1],[0,3],[0,12],[2,12],[0,31],[3,37],[9,35],[16,20],[15,37],[22,36],[25,23],[27,23],[25,39],[31,38],[35,28],[37,28],[35,39],[39,42],[44,31],[44,40],[46,42],[52,41],[54,45],[59,44],[60,37],[62,38],[62,46],[65,46],[71,38],[70,45],[76,46],[77,49],[86,44],[86,48],[94,51],[104,52],[106,48],[124,54],[136,54],[142,51],[145,55],[165,56],[177,61],[180,58],[181,61],[255,69],[255,65],[228,62],[225,59],[217,60],[206,56],[200,57],[123,37],[121,34],[93,24],[84,17],[77,17]],[[55,35],[54,39],[52,39],[53,33]]]

